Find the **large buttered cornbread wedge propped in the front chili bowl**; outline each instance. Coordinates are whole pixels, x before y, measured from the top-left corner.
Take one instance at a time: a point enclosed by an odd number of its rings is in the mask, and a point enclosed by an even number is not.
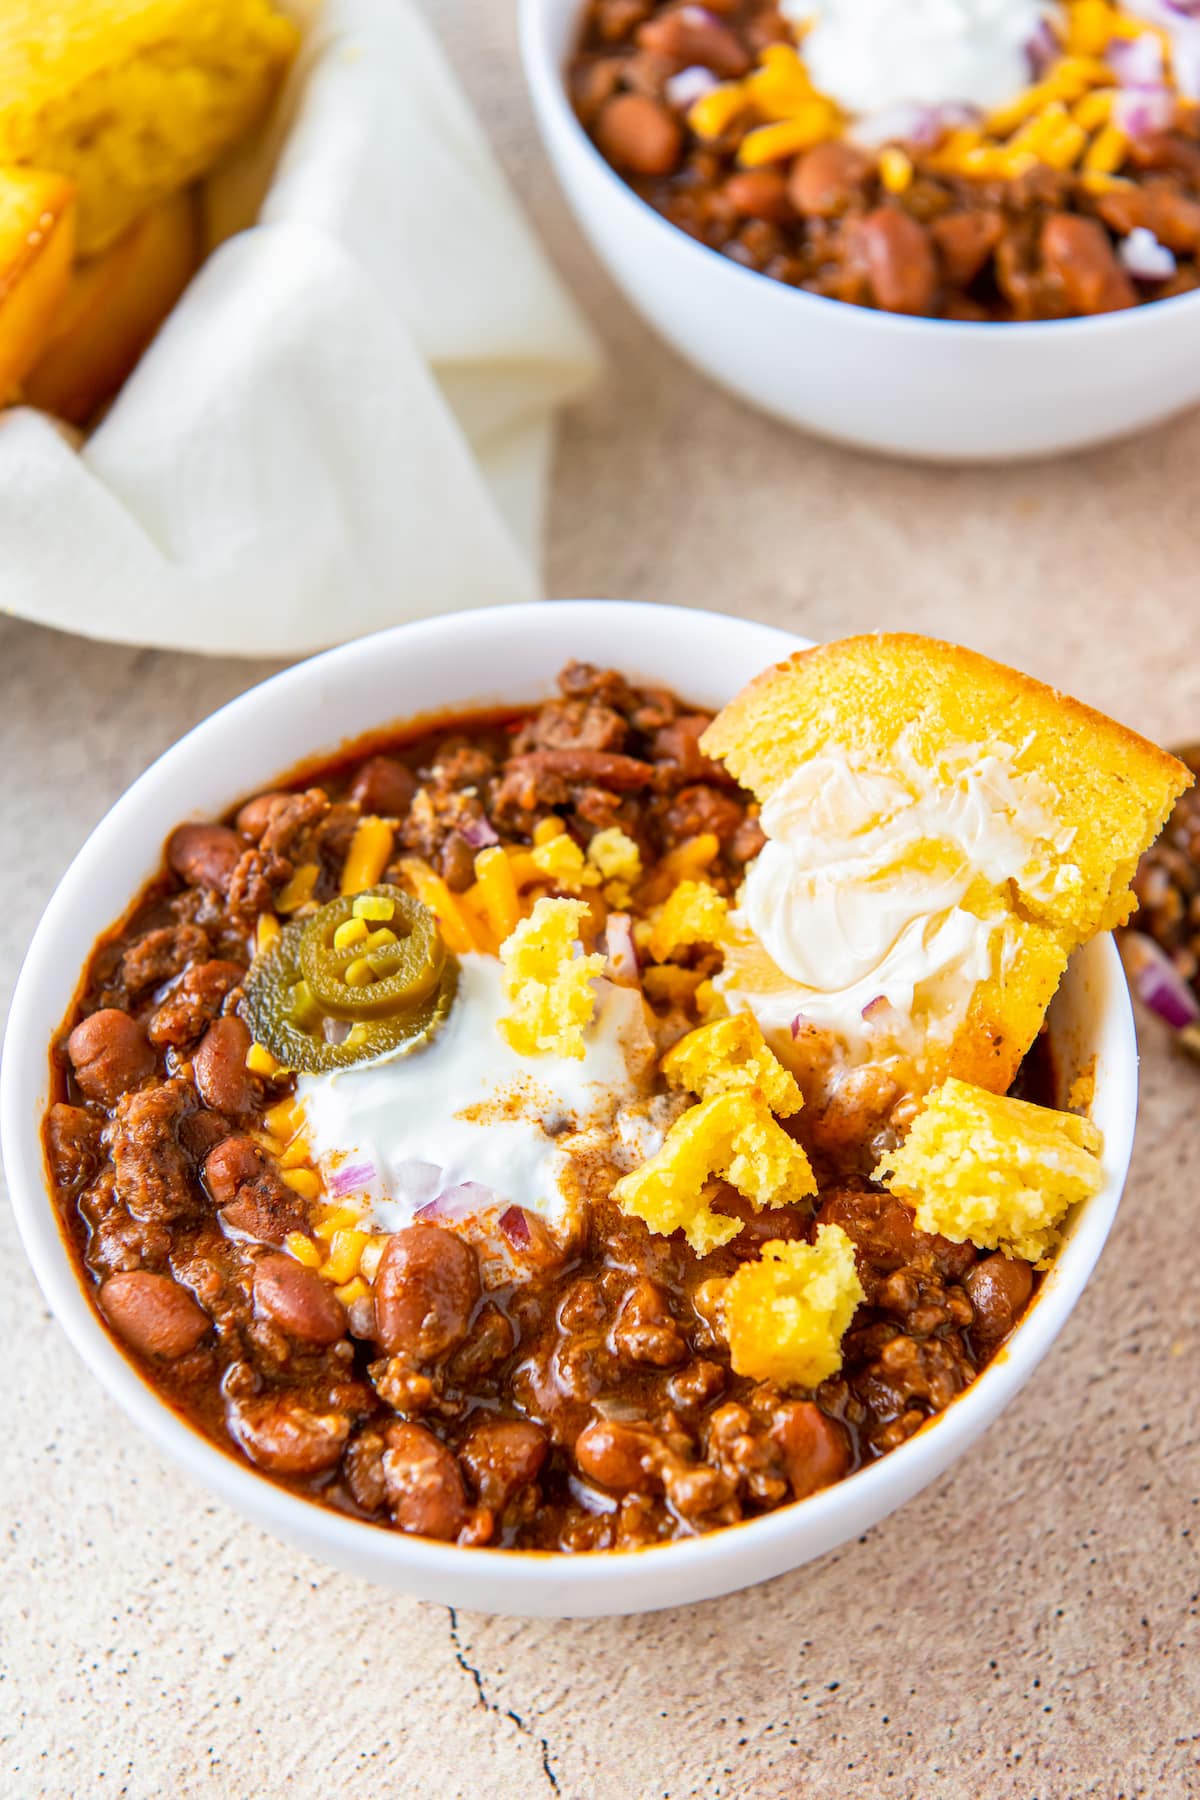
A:
[[[790,657],[700,742],[768,835],[727,1001],[792,1008],[918,1093],[1009,1087],[1067,958],[1128,918],[1137,859],[1191,783],[1078,700],[907,634]]]

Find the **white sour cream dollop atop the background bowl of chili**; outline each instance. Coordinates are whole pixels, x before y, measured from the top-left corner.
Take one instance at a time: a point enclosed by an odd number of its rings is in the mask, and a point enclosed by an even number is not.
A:
[[[990,110],[1029,81],[1027,45],[1045,0],[783,0],[806,27],[815,86],[847,113],[916,101]]]

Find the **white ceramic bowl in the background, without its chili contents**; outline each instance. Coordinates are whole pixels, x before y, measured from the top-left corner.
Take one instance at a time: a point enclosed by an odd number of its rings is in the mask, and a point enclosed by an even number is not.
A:
[[[642,317],[790,425],[894,455],[1078,450],[1200,401],[1200,293],[1045,324],[954,324],[826,301],[696,243],[637,198],[563,85],[581,0],[520,0],[534,112],[579,225]]]

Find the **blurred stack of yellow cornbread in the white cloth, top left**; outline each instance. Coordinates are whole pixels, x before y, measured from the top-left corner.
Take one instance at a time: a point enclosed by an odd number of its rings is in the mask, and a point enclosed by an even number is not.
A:
[[[83,423],[200,261],[189,189],[263,121],[268,0],[0,5],[0,403]]]

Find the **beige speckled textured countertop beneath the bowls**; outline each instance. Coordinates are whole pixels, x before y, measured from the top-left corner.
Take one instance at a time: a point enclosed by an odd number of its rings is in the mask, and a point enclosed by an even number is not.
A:
[[[939,632],[1166,742],[1200,736],[1200,416],[1056,466],[963,473],[743,410],[648,337],[581,247],[538,157],[509,11],[439,0],[437,23],[612,355],[563,430],[551,590],[817,637]],[[263,673],[0,621],[0,1003],[92,823]],[[0,1211],[0,1793],[1200,1793],[1200,1085],[1153,1030],[1142,1075],[1108,1251],[984,1442],[864,1541],[640,1620],[455,1618],[268,1541],[104,1399]]]

